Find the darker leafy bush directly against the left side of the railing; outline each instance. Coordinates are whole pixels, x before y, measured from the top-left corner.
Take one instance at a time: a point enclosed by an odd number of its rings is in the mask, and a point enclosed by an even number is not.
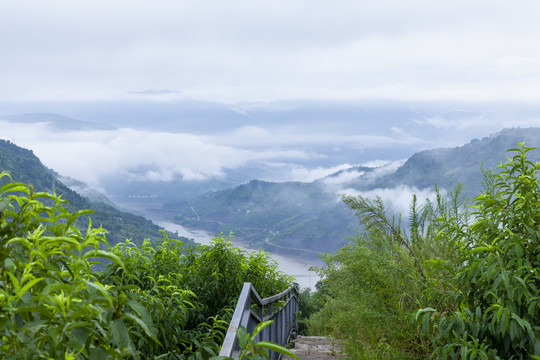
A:
[[[248,254],[223,236],[210,246],[185,247],[163,233],[157,243],[144,241],[137,247],[126,241],[112,253],[124,266],[109,264],[100,280],[136,293],[149,309],[161,345],[139,337],[137,346],[147,358],[216,356],[244,282],[268,296],[292,281],[268,254]]]

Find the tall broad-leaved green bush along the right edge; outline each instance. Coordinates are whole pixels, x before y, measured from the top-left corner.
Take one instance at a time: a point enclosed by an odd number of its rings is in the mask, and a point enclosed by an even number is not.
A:
[[[431,302],[415,317],[440,359],[540,356],[540,164],[520,145],[487,174],[472,224],[443,219],[439,236],[452,241],[457,261],[431,262],[435,272],[448,269],[447,295],[432,283]]]

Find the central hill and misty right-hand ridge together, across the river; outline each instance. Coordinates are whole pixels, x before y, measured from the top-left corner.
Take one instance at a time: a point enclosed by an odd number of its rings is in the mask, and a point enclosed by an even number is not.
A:
[[[338,193],[391,194],[387,199],[391,211],[403,211],[392,209],[393,197],[405,196],[408,206],[413,193],[429,193],[435,184],[449,192],[459,181],[465,186],[464,194],[473,197],[482,190],[482,166],[494,169],[505,161],[506,150],[519,142],[540,146],[540,128],[506,129],[463,146],[421,151],[397,169],[391,165],[353,167],[312,183],[254,180],[172,202],[164,209],[176,214],[175,221],[187,227],[234,232],[255,248],[289,248],[294,253],[305,249],[304,255],[310,256],[335,250],[358,229],[357,219]],[[538,160],[540,151],[534,150],[530,156]]]

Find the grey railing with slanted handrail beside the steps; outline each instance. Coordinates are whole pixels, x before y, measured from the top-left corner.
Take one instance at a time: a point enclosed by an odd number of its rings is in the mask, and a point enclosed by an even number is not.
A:
[[[251,283],[244,283],[219,355],[238,359],[240,348],[236,329],[243,326],[252,333],[257,324],[267,320],[273,320],[274,323],[257,334],[255,340],[287,345],[293,331],[298,329],[297,313],[298,288],[295,285],[279,294],[261,299]],[[270,360],[281,359],[281,354],[275,351],[270,351],[269,355]]]

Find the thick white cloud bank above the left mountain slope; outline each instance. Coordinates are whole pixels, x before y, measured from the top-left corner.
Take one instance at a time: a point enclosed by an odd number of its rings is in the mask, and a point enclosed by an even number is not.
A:
[[[46,124],[0,121],[2,137],[30,148],[43,163],[99,187],[106,176],[132,180],[185,180],[219,177],[224,168],[253,161],[305,159],[300,150],[248,150],[208,142],[191,134],[122,128],[110,131],[59,132]]]

